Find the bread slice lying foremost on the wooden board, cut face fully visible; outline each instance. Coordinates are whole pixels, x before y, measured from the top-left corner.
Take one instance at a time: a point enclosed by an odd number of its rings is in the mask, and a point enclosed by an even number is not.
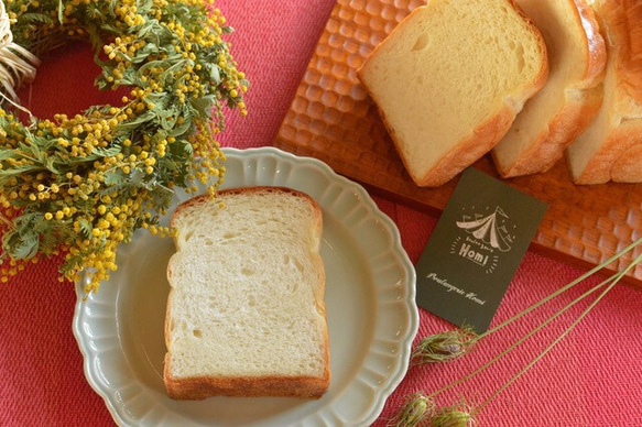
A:
[[[431,0],[357,75],[412,179],[439,186],[488,153],[546,81],[540,31],[511,0]]]

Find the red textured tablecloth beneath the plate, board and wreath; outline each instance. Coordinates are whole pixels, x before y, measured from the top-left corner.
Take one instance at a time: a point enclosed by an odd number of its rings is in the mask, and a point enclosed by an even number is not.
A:
[[[250,116],[232,114],[224,145],[271,145],[290,107],[333,0],[219,0],[237,30],[229,40],[249,79]],[[75,113],[116,94],[98,94],[98,68],[80,46],[48,58],[26,102],[39,116]],[[416,262],[436,220],[391,200],[376,198],[399,226],[403,245]],[[583,271],[527,253],[509,287],[494,325],[558,289]],[[583,289],[596,284],[590,280]],[[578,295],[578,292],[574,292]],[[563,298],[564,302],[570,297]],[[39,264],[0,286],[0,426],[111,426],[102,399],[85,381],[72,333],[76,296],[58,283],[56,265]],[[384,425],[405,396],[431,392],[461,377],[531,330],[563,302],[490,336],[467,358],[411,368],[389,398],[377,425]],[[584,305],[586,306],[586,305]],[[417,339],[449,326],[421,311]],[[580,308],[572,310],[576,316]],[[500,363],[447,395],[448,401],[483,402],[532,360],[568,325],[555,322]],[[548,355],[488,404],[480,426],[642,426],[642,292],[618,286]]]

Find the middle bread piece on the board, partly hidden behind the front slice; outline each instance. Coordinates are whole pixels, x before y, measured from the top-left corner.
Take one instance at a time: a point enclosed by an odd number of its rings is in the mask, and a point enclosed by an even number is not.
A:
[[[605,41],[585,0],[516,0],[542,31],[548,80],[492,150],[503,177],[548,171],[602,103]]]

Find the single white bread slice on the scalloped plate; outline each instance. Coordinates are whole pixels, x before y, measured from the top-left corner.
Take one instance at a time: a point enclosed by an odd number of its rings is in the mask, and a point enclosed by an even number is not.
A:
[[[176,208],[164,381],[177,399],[320,397],[329,344],[318,204],[282,187]]]

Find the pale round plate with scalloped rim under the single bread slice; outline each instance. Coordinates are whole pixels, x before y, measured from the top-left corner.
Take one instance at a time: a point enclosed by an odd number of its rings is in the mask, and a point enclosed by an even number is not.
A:
[[[317,160],[273,147],[225,152],[224,188],[286,186],[309,194],[323,208],[328,392],[318,401],[168,398],[162,380],[163,322],[165,269],[174,248],[171,239],[145,231],[119,249],[119,269],[98,294],[84,302],[78,284],[74,333],[87,381],[123,426],[371,424],[405,375],[418,327],[415,272],[396,227],[361,186]],[[178,194],[175,202],[186,198]]]

